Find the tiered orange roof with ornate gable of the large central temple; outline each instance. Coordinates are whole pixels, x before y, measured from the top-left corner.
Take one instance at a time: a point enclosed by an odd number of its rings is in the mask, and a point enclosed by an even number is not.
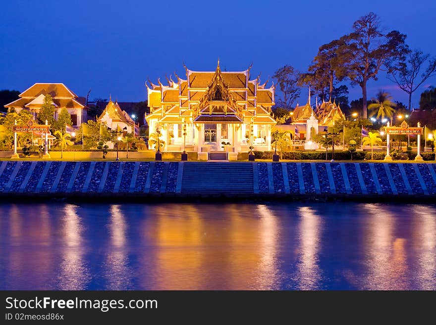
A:
[[[193,71],[186,66],[186,79],[176,75],[158,84],[146,83],[150,114],[162,123],[182,123],[192,118],[194,123],[275,124],[270,116],[274,105],[274,86],[250,80],[250,68],[244,71]]]

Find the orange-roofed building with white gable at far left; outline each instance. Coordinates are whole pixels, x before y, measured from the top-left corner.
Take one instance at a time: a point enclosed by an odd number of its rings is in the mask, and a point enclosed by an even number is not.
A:
[[[62,108],[66,108],[71,115],[73,127],[78,127],[88,121],[88,107],[85,106],[85,98],[77,96],[64,84],[36,83],[19,94],[19,99],[4,105],[6,108],[14,108],[18,113],[22,109],[30,111],[35,119],[44,104],[44,97],[51,95],[55,107],[54,119]]]

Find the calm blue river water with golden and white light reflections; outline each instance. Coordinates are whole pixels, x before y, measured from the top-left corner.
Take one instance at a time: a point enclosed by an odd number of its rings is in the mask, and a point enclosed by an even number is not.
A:
[[[0,289],[436,289],[436,205],[0,205]]]

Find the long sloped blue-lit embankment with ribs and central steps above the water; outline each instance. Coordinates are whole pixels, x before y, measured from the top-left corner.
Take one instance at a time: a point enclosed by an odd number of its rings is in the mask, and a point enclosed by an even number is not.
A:
[[[427,197],[435,163],[3,161],[0,197]]]

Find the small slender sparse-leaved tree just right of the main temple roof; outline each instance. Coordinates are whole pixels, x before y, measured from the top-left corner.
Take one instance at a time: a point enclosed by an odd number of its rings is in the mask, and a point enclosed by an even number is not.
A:
[[[277,101],[278,106],[290,110],[295,99],[300,96],[300,88],[297,86],[300,74],[291,65],[285,65],[275,71],[272,78],[276,80],[282,98]]]

